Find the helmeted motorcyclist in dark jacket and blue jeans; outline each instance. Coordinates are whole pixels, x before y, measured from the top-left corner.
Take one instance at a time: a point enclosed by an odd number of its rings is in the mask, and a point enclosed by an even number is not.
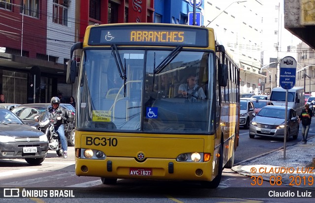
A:
[[[51,98],[51,107],[48,108],[48,112],[53,115],[53,117],[57,117],[57,121],[54,124],[55,131],[58,133],[60,137],[60,142],[63,148],[63,158],[68,158],[67,153],[67,139],[64,136],[64,129],[63,129],[63,119],[65,116],[63,108],[59,107],[60,99],[57,96]],[[57,115],[56,115],[57,114]]]

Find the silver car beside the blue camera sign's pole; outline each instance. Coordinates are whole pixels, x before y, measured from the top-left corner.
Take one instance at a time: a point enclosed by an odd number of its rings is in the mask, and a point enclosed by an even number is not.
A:
[[[250,138],[255,136],[284,138],[284,127],[287,125],[286,139],[297,139],[299,122],[296,111],[287,107],[287,120],[285,122],[285,107],[265,106],[254,115],[250,125]]]

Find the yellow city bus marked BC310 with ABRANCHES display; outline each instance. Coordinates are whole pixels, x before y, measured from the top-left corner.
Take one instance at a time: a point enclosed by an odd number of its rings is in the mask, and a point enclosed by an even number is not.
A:
[[[213,29],[96,24],[75,50],[77,175],[218,187],[238,145],[240,80]]]

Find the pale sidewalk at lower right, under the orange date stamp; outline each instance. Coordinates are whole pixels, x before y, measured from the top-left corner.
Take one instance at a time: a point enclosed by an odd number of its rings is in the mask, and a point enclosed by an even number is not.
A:
[[[313,132],[309,132],[309,137],[313,135]],[[289,186],[289,183],[292,186],[293,180],[293,186],[315,189],[313,158],[315,158],[315,136],[308,139],[306,145],[300,142],[296,145],[286,146],[285,159],[282,148],[238,163],[239,165],[232,167],[232,170],[246,176],[261,175],[264,181],[273,181],[274,177],[281,175],[282,186]]]

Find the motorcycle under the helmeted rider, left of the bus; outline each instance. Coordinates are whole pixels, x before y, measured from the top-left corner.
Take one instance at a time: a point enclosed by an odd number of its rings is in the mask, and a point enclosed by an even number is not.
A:
[[[57,115],[61,112],[57,112],[56,114],[52,115],[48,111],[43,111],[39,117],[39,128],[40,131],[45,133],[48,138],[48,147],[51,150],[55,150],[58,156],[63,156],[63,149],[61,147],[61,142],[58,139],[58,134],[55,131],[54,124],[57,122]]]

